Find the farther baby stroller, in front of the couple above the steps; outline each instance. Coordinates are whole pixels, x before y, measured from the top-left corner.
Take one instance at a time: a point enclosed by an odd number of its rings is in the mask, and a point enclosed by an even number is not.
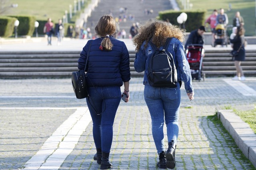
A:
[[[216,45],[221,45],[222,47],[226,45],[226,47],[228,47],[228,38],[224,24],[218,24],[215,27],[214,47],[216,47]]]

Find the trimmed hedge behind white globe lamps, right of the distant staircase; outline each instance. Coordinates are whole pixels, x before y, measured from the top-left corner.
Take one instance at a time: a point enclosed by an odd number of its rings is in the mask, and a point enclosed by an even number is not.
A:
[[[166,21],[168,19],[170,23],[173,25],[180,25],[177,22],[178,16],[182,12],[185,12],[188,15],[188,18],[185,22],[186,32],[191,32],[194,29],[198,29],[201,25],[204,25],[204,17],[206,15],[206,11],[174,11],[174,10],[166,10],[160,11],[158,19]],[[182,27],[182,26],[181,26]]]

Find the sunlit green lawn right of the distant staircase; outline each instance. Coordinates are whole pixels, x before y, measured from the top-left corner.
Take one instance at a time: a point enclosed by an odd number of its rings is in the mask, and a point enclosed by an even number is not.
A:
[[[181,0],[177,2],[180,4]],[[256,35],[255,0],[190,0],[190,3],[193,4],[192,10],[207,10],[206,18],[212,14],[214,9],[223,8],[228,15],[229,24],[233,24],[235,12],[239,11],[244,18],[245,35]],[[230,11],[228,10],[229,4],[231,4]]]

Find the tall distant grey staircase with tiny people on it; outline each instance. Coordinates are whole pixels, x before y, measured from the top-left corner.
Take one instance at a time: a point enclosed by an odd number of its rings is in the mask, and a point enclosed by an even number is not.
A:
[[[114,4],[114,5],[113,5]],[[120,8],[127,8],[125,13],[120,13]],[[152,14],[144,14],[144,10],[153,10]],[[98,23],[101,16],[112,13],[114,18],[123,16],[126,14],[127,20],[119,22],[120,31],[124,29],[128,37],[130,33],[130,27],[134,22],[144,22],[151,18],[156,18],[159,11],[172,9],[170,0],[100,0],[98,6],[92,11],[91,16],[87,18],[87,27],[90,27],[92,34],[94,35],[94,28]],[[135,16],[134,20],[129,20],[128,16],[132,14]]]

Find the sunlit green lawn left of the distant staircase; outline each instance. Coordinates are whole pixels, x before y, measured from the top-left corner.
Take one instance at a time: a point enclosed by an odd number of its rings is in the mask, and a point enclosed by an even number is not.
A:
[[[33,15],[37,20],[52,18],[54,22],[58,22],[58,19],[62,19],[65,15],[65,10],[69,13],[70,4],[72,11],[74,10],[74,0],[9,0],[9,2],[18,4],[18,7],[10,8],[6,15]]]

